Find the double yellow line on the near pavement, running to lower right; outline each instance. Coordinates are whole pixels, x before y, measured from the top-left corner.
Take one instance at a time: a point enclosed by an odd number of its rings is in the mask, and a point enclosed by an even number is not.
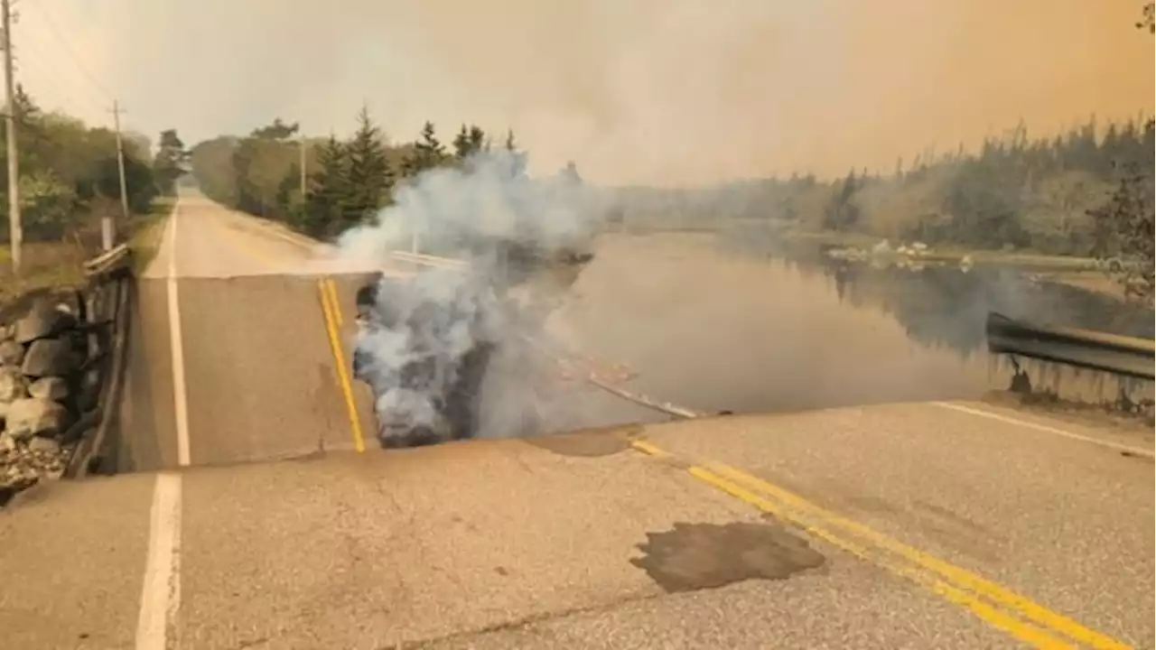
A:
[[[636,440],[631,445],[647,456],[679,461],[674,455],[647,441]],[[1052,612],[1025,596],[825,510],[746,472],[720,463],[679,464],[695,479],[857,557],[907,578],[1032,648],[1131,648]]]

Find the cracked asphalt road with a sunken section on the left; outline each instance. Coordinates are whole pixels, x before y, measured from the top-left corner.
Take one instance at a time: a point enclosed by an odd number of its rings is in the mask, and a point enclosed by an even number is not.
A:
[[[1143,440],[909,402],[381,452],[334,362],[357,278],[195,198],[176,223],[139,471],[0,514],[6,648],[1156,648]]]

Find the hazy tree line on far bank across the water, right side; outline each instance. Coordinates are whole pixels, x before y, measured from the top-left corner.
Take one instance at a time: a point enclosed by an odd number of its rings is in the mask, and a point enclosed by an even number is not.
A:
[[[928,149],[885,172],[795,173],[686,192],[631,189],[620,204],[638,221],[772,220],[801,231],[1092,256],[1104,234],[1091,213],[1129,170],[1156,172],[1156,124],[1142,118],[1091,119],[1046,138],[1030,138],[1021,124],[975,150]]]

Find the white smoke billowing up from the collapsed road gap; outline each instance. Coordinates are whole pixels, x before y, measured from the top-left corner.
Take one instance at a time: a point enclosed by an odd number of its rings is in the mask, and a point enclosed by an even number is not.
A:
[[[422,173],[398,189],[394,201],[371,223],[342,235],[339,259],[385,267],[390,253],[409,251],[416,236],[420,252],[467,265],[378,281],[356,365],[373,387],[383,444],[415,431],[428,440],[529,433],[541,398],[526,382],[534,368],[524,341],[543,338],[546,315],[516,308],[507,291],[525,285],[519,260],[526,253],[553,259],[562,250],[583,251],[605,214],[599,192],[572,168],[532,179],[524,154],[497,150],[476,154],[460,169]],[[534,286],[547,294],[538,297],[563,290],[549,282]],[[487,364],[490,357],[501,362]],[[481,390],[468,399],[472,430],[455,434],[454,421],[462,416],[455,408],[465,398],[447,402],[447,397],[459,384],[476,383],[464,375],[486,367]]]

